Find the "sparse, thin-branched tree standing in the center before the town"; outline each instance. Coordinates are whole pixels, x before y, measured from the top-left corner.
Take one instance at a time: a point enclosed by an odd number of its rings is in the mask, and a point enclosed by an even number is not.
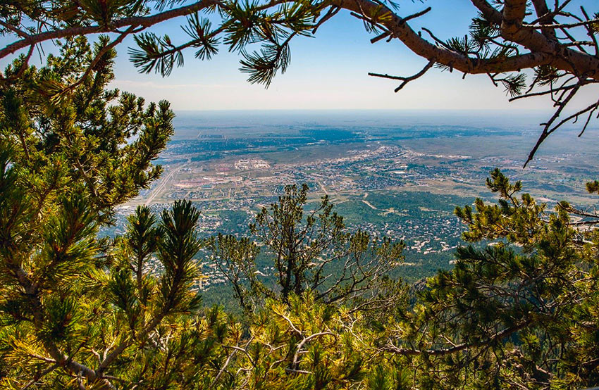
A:
[[[291,294],[305,291],[325,303],[357,303],[368,296],[364,309],[375,303],[379,310],[394,306],[394,297],[384,292],[397,292],[388,274],[403,260],[403,242],[348,232],[328,196],[312,206],[308,190],[307,184],[285,187],[278,203],[262,208],[249,225],[252,236],[220,234],[211,241],[212,258],[242,308],[251,309],[251,301],[261,296],[286,303]],[[259,253],[273,265],[269,279],[259,277],[264,275],[257,266]]]

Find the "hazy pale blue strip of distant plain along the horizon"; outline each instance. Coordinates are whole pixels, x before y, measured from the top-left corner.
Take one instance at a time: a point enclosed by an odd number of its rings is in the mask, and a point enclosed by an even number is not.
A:
[[[273,134],[281,137],[307,128],[315,131],[349,130],[365,132],[431,132],[470,128],[471,134],[487,137],[507,131],[519,134],[512,137],[513,144],[488,147],[487,153],[511,155],[518,149],[517,158],[524,161],[541,133],[539,123],[547,120],[550,111],[485,111],[485,110],[256,110],[256,111],[175,111],[173,140],[200,139],[206,134],[224,137],[261,137]],[[599,134],[599,127],[591,125],[582,137],[576,137],[580,123],[568,124],[545,140],[538,156],[560,153],[588,153],[593,151]],[[464,139],[455,153],[471,153],[479,149],[474,138]],[[493,141],[490,141],[493,144]],[[506,149],[506,147],[509,149]]]

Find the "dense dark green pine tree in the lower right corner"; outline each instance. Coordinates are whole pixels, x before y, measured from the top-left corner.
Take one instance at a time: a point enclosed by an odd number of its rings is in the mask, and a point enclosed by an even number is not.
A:
[[[428,279],[414,308],[378,335],[379,348],[420,371],[422,389],[595,386],[599,241],[580,227],[597,216],[575,222],[580,212],[565,202],[547,210],[499,170],[487,185],[498,204],[456,209],[464,240],[479,244]]]

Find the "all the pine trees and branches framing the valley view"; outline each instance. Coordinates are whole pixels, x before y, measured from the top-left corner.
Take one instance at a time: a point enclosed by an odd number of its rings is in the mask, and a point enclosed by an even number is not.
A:
[[[489,4],[471,38],[426,42],[379,1],[8,1],[1,32],[19,49],[0,79],[0,386],[6,389],[580,389],[599,384],[599,216],[548,210],[495,170],[497,204],[457,208],[469,227],[455,268],[409,287],[385,275],[403,245],[348,232],[327,198],[288,187],[249,227],[251,239],[197,237],[199,212],[177,201],[135,210],[123,237],[99,239],[115,207],[147,188],[173,132],[168,103],[108,89],[114,47],[137,34],[133,61],[168,74],[223,44],[250,81],[288,64],[289,42],[346,8],[433,65],[488,73],[512,94],[535,70],[557,112],[599,79],[598,21],[569,1]],[[391,8],[389,8],[391,7]],[[211,27],[201,12],[218,11]],[[191,40],[142,32],[188,15]],[[557,23],[558,18],[579,18]],[[569,33],[581,28],[589,40]],[[85,34],[111,32],[89,44]],[[559,33],[559,34],[558,34]],[[60,54],[29,64],[41,42]],[[265,45],[248,54],[247,44]],[[590,49],[589,49],[590,48]],[[526,52],[525,52],[526,51]],[[424,71],[422,73],[424,73]],[[420,73],[419,73],[420,74]],[[395,77],[402,82],[414,77]],[[565,82],[562,84],[561,80]],[[403,84],[402,84],[403,85]],[[583,113],[594,113],[597,105]],[[581,113],[579,113],[581,115]],[[574,116],[572,117],[574,118]],[[588,118],[591,118],[590,116]],[[567,120],[565,118],[564,120]],[[557,121],[557,122],[556,122]],[[534,151],[533,151],[534,152]],[[531,153],[531,156],[533,153]],[[599,191],[590,182],[588,191]],[[489,244],[490,243],[490,244]],[[204,308],[197,256],[208,253],[243,315]],[[261,277],[259,253],[272,260]],[[335,272],[333,272],[335,270]]]

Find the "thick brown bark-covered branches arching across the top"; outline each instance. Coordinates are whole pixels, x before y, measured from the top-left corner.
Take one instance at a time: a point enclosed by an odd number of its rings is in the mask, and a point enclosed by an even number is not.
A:
[[[496,10],[486,0],[471,0],[472,4],[485,15],[488,20],[500,26],[502,37],[508,41],[520,44],[531,53],[521,56],[512,56],[497,61],[493,59],[479,59],[457,53],[450,49],[440,47],[426,41],[407,24],[407,18],[401,18],[390,8],[372,0],[332,0],[331,5],[353,11],[359,15],[385,15],[378,18],[377,22],[386,27],[391,37],[400,39],[415,54],[427,58],[433,58],[438,63],[449,68],[457,69],[463,73],[504,73],[519,71],[525,68],[534,68],[538,65],[552,65],[560,70],[565,70],[576,75],[586,75],[594,80],[599,80],[599,58],[581,51],[564,46],[555,39],[545,36],[541,32],[522,27],[526,13],[526,0],[506,0],[503,12]],[[114,32],[120,27],[132,25],[149,27],[164,20],[178,16],[189,15],[204,8],[219,4],[218,0],[197,1],[188,6],[175,8],[169,11],[157,13],[156,15],[144,17],[122,18],[113,21],[109,26],[92,25],[85,27],[70,27],[62,30],[52,30],[30,37],[20,39],[0,50],[0,58],[13,54],[26,46],[44,42],[49,39],[58,39],[78,34],[94,34],[99,32]],[[280,1],[271,1],[261,8],[273,6]],[[539,11],[545,10],[542,1],[536,1]],[[545,5],[546,7],[546,5]],[[387,17],[388,16],[388,17]]]

